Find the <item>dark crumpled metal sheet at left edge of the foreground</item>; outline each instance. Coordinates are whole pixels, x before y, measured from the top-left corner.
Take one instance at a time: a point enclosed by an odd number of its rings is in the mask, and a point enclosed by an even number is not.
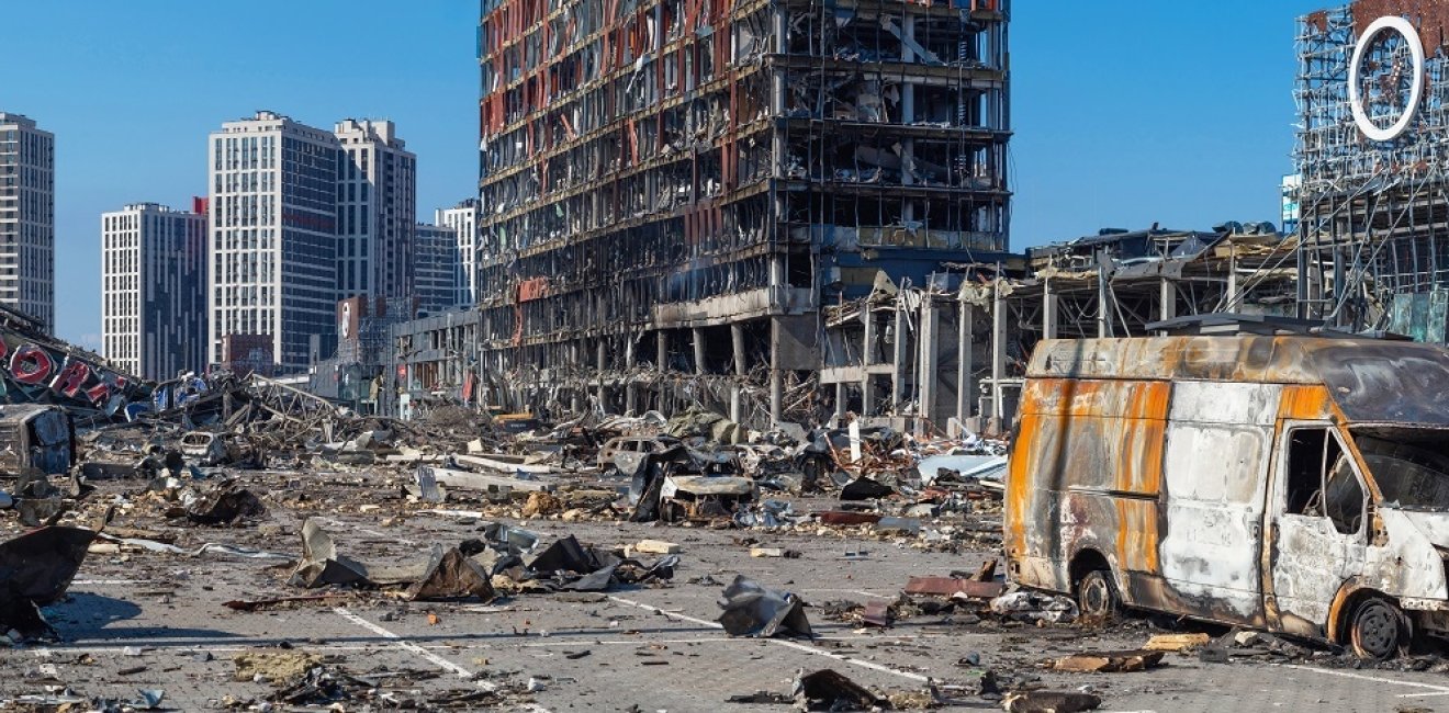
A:
[[[52,638],[41,609],[65,596],[96,530],[42,528],[0,543],[0,633]]]

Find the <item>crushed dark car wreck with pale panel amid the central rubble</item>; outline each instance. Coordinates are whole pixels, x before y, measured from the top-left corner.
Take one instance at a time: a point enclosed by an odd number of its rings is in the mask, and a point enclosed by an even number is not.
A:
[[[632,522],[732,519],[758,496],[755,481],[739,474],[727,452],[707,452],[685,443],[646,454],[633,474],[629,503]]]

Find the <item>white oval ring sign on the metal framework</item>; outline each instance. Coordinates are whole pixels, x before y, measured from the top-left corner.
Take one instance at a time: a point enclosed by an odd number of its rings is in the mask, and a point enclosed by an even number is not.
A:
[[[1408,67],[1403,65],[1406,51]],[[1364,91],[1365,83],[1372,84],[1368,93]],[[1423,96],[1424,45],[1419,41],[1419,30],[1403,17],[1379,17],[1369,23],[1349,64],[1353,123],[1371,141],[1394,141],[1408,130]],[[1372,104],[1372,116],[1365,100]],[[1388,119],[1392,123],[1384,126]]]

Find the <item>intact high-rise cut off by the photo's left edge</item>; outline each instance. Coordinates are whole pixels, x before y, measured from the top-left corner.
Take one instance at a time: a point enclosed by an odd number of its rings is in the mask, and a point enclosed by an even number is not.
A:
[[[0,112],[0,304],[55,329],[55,135]]]

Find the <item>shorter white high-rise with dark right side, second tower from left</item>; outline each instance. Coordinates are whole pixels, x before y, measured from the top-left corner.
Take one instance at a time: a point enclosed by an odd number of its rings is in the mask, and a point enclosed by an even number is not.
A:
[[[106,358],[152,381],[201,371],[207,341],[206,214],[133,203],[101,213],[100,229]]]

